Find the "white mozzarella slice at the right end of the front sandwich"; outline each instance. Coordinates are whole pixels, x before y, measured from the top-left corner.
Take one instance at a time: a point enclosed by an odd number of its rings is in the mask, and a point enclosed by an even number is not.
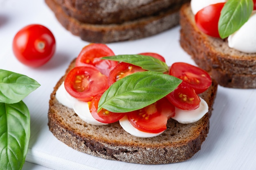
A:
[[[172,119],[182,124],[193,123],[200,120],[209,110],[208,104],[204,99],[200,98],[200,105],[195,110],[182,110],[175,107],[175,116]]]

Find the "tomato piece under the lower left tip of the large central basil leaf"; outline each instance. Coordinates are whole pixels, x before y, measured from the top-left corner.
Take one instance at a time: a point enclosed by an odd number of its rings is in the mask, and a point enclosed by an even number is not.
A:
[[[126,113],[113,113],[106,109],[101,109],[98,113],[98,104],[102,94],[95,96],[91,102],[89,102],[89,109],[92,117],[102,123],[114,123],[123,118]]]

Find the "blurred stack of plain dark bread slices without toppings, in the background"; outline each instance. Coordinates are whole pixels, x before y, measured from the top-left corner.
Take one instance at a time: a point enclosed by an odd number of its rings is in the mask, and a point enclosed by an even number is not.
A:
[[[61,25],[84,41],[110,43],[140,39],[179,24],[189,0],[45,0]]]

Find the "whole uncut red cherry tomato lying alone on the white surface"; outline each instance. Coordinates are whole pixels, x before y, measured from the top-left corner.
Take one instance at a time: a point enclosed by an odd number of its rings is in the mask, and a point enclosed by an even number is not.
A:
[[[13,53],[23,64],[30,67],[44,65],[56,49],[54,35],[48,28],[32,24],[22,28],[13,38]]]

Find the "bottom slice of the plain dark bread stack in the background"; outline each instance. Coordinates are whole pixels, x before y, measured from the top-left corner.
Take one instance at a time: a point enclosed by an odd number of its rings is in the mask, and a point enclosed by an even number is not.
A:
[[[45,0],[45,2],[68,31],[89,42],[110,43],[140,39],[166,31],[179,24],[179,8],[123,24],[99,25],[81,23],[69,17],[54,0]]]

